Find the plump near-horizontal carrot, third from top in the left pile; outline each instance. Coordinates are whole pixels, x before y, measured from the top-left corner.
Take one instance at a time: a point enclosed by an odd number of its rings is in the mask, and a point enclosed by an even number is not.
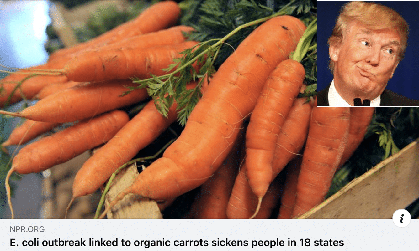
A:
[[[68,79],[77,82],[129,77],[149,78],[151,74],[165,74],[162,69],[172,64],[173,59],[180,57],[182,51],[197,44],[195,41],[187,41],[151,48],[124,47],[86,51],[73,57],[63,69],[52,72],[60,72]]]

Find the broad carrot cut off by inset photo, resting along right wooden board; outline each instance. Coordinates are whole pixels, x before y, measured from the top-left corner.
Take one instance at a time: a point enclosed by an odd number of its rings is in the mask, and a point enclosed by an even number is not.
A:
[[[323,201],[348,142],[349,107],[314,107],[291,217]]]

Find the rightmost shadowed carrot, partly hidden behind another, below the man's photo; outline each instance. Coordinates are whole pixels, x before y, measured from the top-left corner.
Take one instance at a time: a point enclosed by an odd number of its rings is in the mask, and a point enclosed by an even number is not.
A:
[[[354,154],[371,123],[374,107],[351,106],[351,122],[349,124],[348,146],[345,148],[338,169]]]

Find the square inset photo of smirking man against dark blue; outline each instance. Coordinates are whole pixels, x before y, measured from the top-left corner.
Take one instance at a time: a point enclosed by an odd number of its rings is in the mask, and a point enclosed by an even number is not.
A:
[[[419,1],[318,1],[318,106],[419,106]]]

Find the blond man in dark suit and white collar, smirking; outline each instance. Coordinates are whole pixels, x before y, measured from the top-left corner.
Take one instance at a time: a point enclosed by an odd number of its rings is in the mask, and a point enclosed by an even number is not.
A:
[[[328,39],[334,79],[317,93],[319,106],[419,106],[385,87],[403,58],[408,25],[383,5],[344,5]]]

